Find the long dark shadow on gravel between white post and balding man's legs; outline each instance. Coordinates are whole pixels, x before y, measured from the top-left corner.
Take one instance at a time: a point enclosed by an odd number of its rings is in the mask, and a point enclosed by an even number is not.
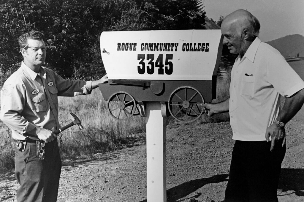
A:
[[[209,178],[191,180],[172,187],[171,189],[167,190],[167,202],[174,202],[178,199],[186,197],[206,184],[228,181],[228,179],[226,179],[227,177],[228,174],[215,175]],[[147,199],[141,202],[147,202]]]

